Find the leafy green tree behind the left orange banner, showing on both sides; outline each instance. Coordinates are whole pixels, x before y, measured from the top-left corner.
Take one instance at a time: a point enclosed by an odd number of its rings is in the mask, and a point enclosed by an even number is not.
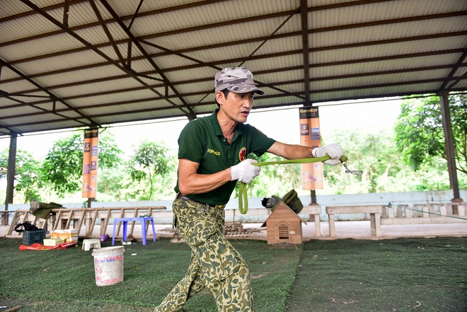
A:
[[[64,196],[81,190],[83,171],[83,132],[75,132],[59,139],[42,163],[42,181],[50,185],[57,195]],[[100,132],[98,144],[99,168],[113,168],[122,161],[122,151],[113,135]]]

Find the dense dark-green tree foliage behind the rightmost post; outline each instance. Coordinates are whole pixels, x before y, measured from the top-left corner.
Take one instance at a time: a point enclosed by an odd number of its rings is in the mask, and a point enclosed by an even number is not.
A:
[[[439,97],[406,98],[396,125],[396,144],[405,163],[415,171],[437,158],[446,159]],[[449,96],[456,167],[467,174],[467,95]]]

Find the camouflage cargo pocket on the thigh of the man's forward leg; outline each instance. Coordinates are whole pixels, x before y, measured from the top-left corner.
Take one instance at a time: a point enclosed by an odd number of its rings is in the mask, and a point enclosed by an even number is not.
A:
[[[206,282],[218,282],[238,271],[241,259],[233,246],[220,233],[192,248],[200,262]]]

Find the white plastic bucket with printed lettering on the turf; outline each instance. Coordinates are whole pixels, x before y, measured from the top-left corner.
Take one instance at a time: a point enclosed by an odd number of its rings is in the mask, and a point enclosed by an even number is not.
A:
[[[110,286],[123,280],[123,254],[125,247],[93,249],[96,285]]]

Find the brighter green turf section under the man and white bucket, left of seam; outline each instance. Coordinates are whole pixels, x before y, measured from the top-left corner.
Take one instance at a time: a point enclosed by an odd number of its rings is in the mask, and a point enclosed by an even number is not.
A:
[[[264,241],[231,241],[248,262],[257,311],[284,311],[300,248],[271,248]],[[125,246],[124,280],[110,287],[95,282],[91,251],[81,248],[21,251],[20,240],[0,239],[0,306],[21,311],[152,311],[185,275],[190,248],[159,239]],[[102,247],[110,246],[105,243]],[[132,255],[136,254],[136,255]],[[138,308],[138,309],[137,309]],[[212,295],[190,299],[186,311],[217,311]]]

